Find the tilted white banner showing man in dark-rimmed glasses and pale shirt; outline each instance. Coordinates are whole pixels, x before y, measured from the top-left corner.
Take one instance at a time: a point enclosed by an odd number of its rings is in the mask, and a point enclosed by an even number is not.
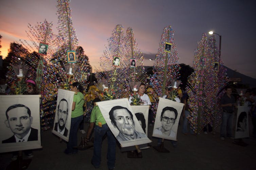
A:
[[[159,97],[152,136],[177,140],[177,130],[184,104]]]

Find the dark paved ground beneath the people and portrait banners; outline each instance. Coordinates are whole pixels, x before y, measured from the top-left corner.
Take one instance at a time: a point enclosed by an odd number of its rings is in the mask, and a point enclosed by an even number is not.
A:
[[[85,124],[87,131],[88,124]],[[250,127],[251,122],[250,122]],[[157,138],[152,138],[153,127],[149,127],[151,146],[157,145]],[[233,139],[220,140],[219,130],[216,134],[184,135],[182,126],[178,129],[178,146],[173,148],[170,141],[165,140],[165,148],[170,153],[159,153],[152,147],[142,151],[143,158],[127,158],[126,152],[116,150],[116,170],[170,170],[170,169],[256,169],[256,139],[245,138],[242,147],[233,144]],[[251,131],[250,131],[251,134]],[[78,132],[80,143],[82,134]],[[78,154],[66,155],[63,151],[66,143],[59,142],[59,138],[52,134],[51,130],[44,131],[41,135],[42,149],[34,150],[34,157],[28,170],[91,170],[90,164],[93,148],[79,151]],[[107,167],[107,140],[103,141],[102,163],[99,170]],[[25,159],[25,156],[23,155]],[[5,169],[11,163],[11,153],[0,154],[0,169]]]

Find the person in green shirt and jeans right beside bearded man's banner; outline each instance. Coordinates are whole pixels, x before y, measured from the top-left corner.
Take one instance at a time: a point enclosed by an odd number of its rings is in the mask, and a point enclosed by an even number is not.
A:
[[[84,105],[84,95],[83,87],[79,82],[74,82],[71,87],[71,91],[75,92],[72,104],[72,112],[71,112],[71,125],[70,125],[70,133],[69,133],[69,142],[67,144],[67,149],[65,149],[64,153],[76,154],[78,152],[77,149],[73,149],[73,147],[77,146],[77,130],[80,122],[83,120],[83,105]]]

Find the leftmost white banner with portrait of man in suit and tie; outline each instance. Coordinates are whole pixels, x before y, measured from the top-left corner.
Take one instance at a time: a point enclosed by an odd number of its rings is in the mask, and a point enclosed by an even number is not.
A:
[[[0,96],[0,152],[41,148],[40,95]]]

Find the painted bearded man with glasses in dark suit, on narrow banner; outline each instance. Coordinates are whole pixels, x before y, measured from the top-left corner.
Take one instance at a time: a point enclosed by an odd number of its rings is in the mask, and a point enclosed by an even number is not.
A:
[[[65,127],[68,118],[68,101],[66,99],[61,99],[58,105],[58,122],[55,123],[54,130],[58,133],[67,136],[68,129]]]

